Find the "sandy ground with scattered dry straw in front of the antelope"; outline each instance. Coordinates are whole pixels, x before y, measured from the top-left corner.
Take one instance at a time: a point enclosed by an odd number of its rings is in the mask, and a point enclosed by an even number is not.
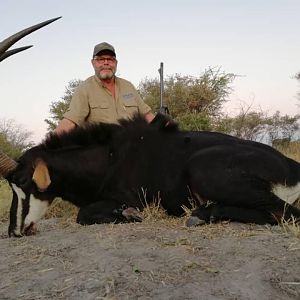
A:
[[[300,239],[281,227],[182,222],[0,226],[0,299],[300,299]]]

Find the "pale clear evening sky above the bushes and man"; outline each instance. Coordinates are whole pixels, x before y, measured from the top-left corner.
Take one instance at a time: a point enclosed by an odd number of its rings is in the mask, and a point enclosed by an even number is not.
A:
[[[50,104],[71,80],[93,74],[92,51],[103,41],[116,49],[117,75],[135,86],[158,79],[161,62],[165,77],[220,68],[238,75],[227,113],[245,105],[300,113],[299,0],[2,0],[0,15],[0,40],[62,16],[15,44],[34,47],[0,63],[0,119],[36,143]]]

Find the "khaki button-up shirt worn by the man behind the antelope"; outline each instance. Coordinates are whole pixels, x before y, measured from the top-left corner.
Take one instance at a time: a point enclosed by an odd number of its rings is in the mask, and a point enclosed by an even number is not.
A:
[[[117,123],[121,118],[131,118],[136,112],[146,114],[151,111],[132,83],[116,77],[115,85],[116,98],[96,75],[89,77],[75,90],[64,118],[77,125],[86,122]]]

